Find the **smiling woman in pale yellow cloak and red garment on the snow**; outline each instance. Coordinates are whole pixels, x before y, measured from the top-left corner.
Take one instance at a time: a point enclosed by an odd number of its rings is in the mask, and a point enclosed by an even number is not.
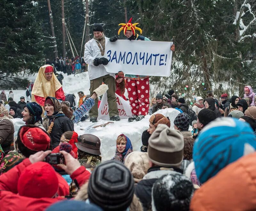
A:
[[[42,116],[44,116],[44,103],[46,97],[54,97],[60,100],[65,100],[64,91],[53,73],[51,65],[44,65],[40,67],[36,76],[36,81],[32,90],[31,102],[36,102],[41,105],[43,109]]]

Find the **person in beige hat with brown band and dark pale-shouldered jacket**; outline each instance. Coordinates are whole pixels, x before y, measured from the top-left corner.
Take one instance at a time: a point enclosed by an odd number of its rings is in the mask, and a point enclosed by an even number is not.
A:
[[[182,174],[184,138],[180,131],[159,124],[148,140],[150,168],[143,179],[135,186],[135,194],[143,209],[151,208],[151,192],[155,181],[163,175]]]

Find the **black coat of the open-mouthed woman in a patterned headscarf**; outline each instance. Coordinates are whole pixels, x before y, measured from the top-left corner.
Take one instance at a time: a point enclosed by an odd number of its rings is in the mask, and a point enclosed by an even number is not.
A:
[[[60,137],[67,131],[74,131],[73,122],[66,116],[56,117],[50,133],[53,149],[60,144]]]

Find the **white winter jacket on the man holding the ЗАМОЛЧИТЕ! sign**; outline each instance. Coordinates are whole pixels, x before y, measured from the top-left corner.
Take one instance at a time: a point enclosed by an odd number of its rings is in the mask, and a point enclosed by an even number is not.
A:
[[[107,46],[108,41],[109,38],[105,36],[105,46]],[[92,38],[87,43],[85,43],[84,46],[84,61],[86,64],[88,64],[89,79],[93,80],[108,74],[115,77],[115,73],[108,73],[103,65],[93,65],[94,59],[102,57],[100,53],[100,48],[97,43],[99,42]]]

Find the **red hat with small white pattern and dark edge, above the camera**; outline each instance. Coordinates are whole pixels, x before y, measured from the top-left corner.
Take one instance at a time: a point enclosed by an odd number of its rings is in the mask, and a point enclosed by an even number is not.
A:
[[[20,140],[30,150],[40,151],[49,149],[51,138],[41,128],[22,127]]]

